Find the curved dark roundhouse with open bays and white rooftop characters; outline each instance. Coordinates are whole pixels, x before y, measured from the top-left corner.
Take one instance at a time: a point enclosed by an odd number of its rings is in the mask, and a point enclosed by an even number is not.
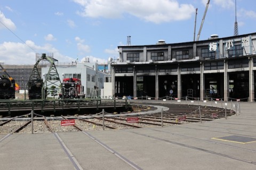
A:
[[[254,101],[256,33],[156,45],[118,46],[111,64],[117,97]]]

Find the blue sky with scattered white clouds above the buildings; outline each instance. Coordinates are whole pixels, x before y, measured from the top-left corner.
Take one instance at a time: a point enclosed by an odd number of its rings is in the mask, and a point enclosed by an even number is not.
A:
[[[1,0],[0,63],[107,63],[118,46],[194,41],[208,0]],[[256,32],[256,1],[236,0],[238,34]],[[234,36],[235,0],[211,0],[199,40]]]

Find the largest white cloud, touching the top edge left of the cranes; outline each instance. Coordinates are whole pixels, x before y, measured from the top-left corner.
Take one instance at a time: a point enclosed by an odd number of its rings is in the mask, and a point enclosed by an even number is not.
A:
[[[194,15],[191,4],[179,4],[177,0],[73,0],[84,7],[78,12],[91,18],[122,18],[126,13],[154,23],[187,20]]]

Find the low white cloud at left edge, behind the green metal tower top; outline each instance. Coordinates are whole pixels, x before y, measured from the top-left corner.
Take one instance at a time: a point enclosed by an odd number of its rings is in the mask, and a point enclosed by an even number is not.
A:
[[[36,52],[31,49],[34,49]],[[54,58],[61,62],[72,62],[75,60],[74,58],[60,54],[59,50],[52,47],[51,44],[37,46],[31,40],[27,40],[26,44],[14,42],[0,44],[0,62],[4,62],[5,64],[35,64],[36,53],[53,53]]]

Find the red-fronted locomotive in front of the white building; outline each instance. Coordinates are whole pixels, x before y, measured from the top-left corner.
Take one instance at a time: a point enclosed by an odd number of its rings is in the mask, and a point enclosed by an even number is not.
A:
[[[84,86],[77,78],[63,79],[61,94],[59,98],[84,98]]]

